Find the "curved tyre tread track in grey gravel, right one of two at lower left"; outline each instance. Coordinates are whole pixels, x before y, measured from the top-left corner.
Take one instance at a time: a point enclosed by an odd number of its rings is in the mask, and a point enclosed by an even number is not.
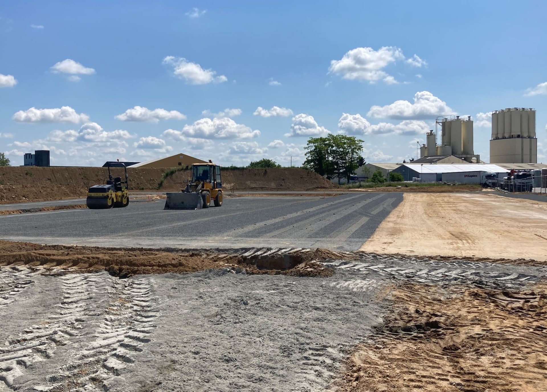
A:
[[[152,280],[109,279],[109,304],[95,330],[95,341],[48,377],[48,386],[38,388],[50,392],[109,390],[109,384],[150,342],[158,318]]]

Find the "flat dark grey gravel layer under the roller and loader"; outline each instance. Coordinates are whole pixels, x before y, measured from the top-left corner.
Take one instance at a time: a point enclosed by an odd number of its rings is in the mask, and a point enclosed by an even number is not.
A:
[[[400,203],[400,192],[226,199],[222,207],[164,210],[164,200],[108,210],[0,216],[0,238],[107,247],[359,249]]]

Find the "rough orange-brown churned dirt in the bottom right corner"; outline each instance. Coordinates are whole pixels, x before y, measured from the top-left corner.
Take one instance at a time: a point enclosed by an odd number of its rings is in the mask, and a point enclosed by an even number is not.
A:
[[[403,284],[389,295],[397,310],[356,347],[335,390],[547,390],[546,290]]]

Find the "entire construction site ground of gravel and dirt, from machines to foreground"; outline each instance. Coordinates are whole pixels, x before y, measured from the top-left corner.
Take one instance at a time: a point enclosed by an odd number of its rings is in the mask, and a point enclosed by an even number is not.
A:
[[[163,204],[0,216],[0,391],[547,390],[545,203]]]

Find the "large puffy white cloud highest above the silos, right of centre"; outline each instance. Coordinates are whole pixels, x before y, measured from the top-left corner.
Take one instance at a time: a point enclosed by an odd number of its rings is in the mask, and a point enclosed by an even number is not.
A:
[[[356,48],[346,52],[341,60],[331,60],[329,72],[342,75],[343,79],[366,80],[369,83],[384,80],[393,84],[397,81],[382,69],[404,58],[403,51],[395,46],[383,46],[379,50]]]

